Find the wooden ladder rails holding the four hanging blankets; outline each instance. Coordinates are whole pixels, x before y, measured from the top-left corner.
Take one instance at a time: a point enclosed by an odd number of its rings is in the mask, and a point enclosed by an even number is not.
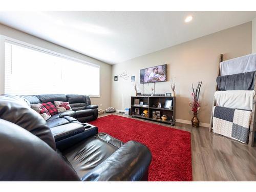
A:
[[[220,55],[220,59],[219,59],[219,63],[218,63],[218,71],[217,71],[217,77],[221,76],[221,71],[220,71],[220,62],[223,61],[223,54]],[[256,78],[255,78],[256,79]],[[256,93],[256,80],[254,79],[254,91]],[[216,91],[219,91],[217,83],[216,83]],[[256,117],[255,117],[255,103],[256,103],[256,95],[253,97],[253,106],[252,106],[252,114],[251,114],[251,122],[250,122],[250,130],[249,130],[249,141],[248,141],[248,145],[249,146],[253,146],[254,144],[254,133],[255,133],[255,126],[256,126]],[[210,116],[210,127],[209,127],[209,132],[211,132],[212,129],[212,118],[214,116],[213,114],[213,109],[214,106],[216,106],[216,101],[215,101],[215,97],[212,101],[212,108],[211,108],[211,116]]]

